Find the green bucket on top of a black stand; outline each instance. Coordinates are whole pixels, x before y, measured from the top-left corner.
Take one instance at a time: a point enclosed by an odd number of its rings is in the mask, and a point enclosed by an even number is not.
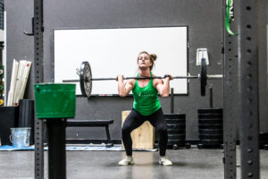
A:
[[[34,86],[39,119],[75,117],[75,84],[38,83]]]

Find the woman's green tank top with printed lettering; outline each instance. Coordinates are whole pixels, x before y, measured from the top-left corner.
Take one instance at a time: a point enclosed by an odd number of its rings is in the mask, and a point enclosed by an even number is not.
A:
[[[147,86],[142,88],[138,86],[138,80],[136,80],[132,94],[134,97],[133,108],[138,111],[140,115],[152,115],[161,108],[158,99],[158,91],[154,88],[153,79],[149,81]]]

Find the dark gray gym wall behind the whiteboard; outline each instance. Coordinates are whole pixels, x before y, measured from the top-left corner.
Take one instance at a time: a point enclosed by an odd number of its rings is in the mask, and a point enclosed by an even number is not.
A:
[[[262,9],[262,6],[260,8]],[[7,12],[7,72],[11,74],[13,58],[33,60],[33,38],[22,34],[23,30],[31,30],[30,18],[33,15],[33,1],[6,1],[5,9]],[[264,12],[263,14],[265,14]],[[199,72],[199,66],[196,66],[197,48],[207,47],[210,59],[210,65],[207,67],[208,73],[222,73],[222,1],[219,0],[44,1],[44,22],[45,82],[53,80],[53,30],[57,28],[91,29],[187,25],[188,72],[192,75]],[[263,39],[261,41],[265,45],[265,41]],[[266,54],[262,53],[262,56],[264,58],[261,61],[265,59],[265,63],[267,63]],[[264,74],[266,74],[266,70],[262,69],[265,72]],[[10,78],[11,76],[7,76],[8,89]],[[263,80],[265,78],[260,81]],[[33,82],[34,73],[32,69],[26,98],[33,98]],[[222,81],[208,81],[208,86],[210,85],[214,87],[214,107],[222,108]],[[264,93],[263,96],[266,96],[267,88],[264,86],[262,86],[260,93]],[[176,96],[174,98],[174,111],[175,113],[186,114],[187,139],[197,140],[197,109],[209,107],[209,97],[200,96],[200,87],[197,80],[189,82],[188,91],[188,96]],[[165,114],[170,113],[170,98],[160,98],[160,100],[163,112]],[[261,124],[268,126],[265,119],[267,112],[263,109],[267,107],[265,101],[261,100],[260,116]],[[132,98],[105,97],[90,98],[89,100],[87,98],[77,98],[76,118],[111,118],[114,120],[114,124],[111,126],[112,139],[120,140],[121,111],[129,110],[132,102]],[[268,127],[265,127],[264,130],[268,131]],[[77,133],[79,136],[76,135]],[[74,139],[105,139],[105,131],[102,129],[75,128],[68,129],[67,136]]]

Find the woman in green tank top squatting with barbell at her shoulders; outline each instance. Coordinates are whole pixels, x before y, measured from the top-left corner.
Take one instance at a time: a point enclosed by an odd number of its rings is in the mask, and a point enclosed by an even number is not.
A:
[[[143,51],[138,54],[138,77],[154,77],[151,72],[154,62],[156,60],[155,54],[148,54]],[[121,97],[125,97],[132,90],[134,103],[130,115],[126,118],[122,129],[122,141],[126,149],[127,157],[122,159],[118,165],[126,166],[134,164],[132,158],[132,140],[130,132],[138,128],[145,121],[149,121],[159,133],[159,149],[160,158],[159,164],[163,166],[171,166],[172,162],[165,157],[167,145],[167,128],[163,116],[163,110],[158,99],[158,93],[162,97],[168,97],[170,92],[171,75],[165,75],[166,78],[135,80],[131,79],[123,83],[123,76],[118,75],[118,92]]]

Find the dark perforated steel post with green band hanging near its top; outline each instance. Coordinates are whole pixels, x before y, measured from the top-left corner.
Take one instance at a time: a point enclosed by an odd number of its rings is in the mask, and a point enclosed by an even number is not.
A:
[[[231,36],[226,30],[226,0],[222,1],[222,57],[223,57],[223,146],[224,146],[224,178],[235,179],[236,172],[236,122],[238,113],[236,111],[237,98],[234,94],[236,89],[235,79],[237,74],[234,66],[237,64],[236,38]],[[231,28],[235,21],[230,22]],[[224,25],[225,24],[225,25]]]

